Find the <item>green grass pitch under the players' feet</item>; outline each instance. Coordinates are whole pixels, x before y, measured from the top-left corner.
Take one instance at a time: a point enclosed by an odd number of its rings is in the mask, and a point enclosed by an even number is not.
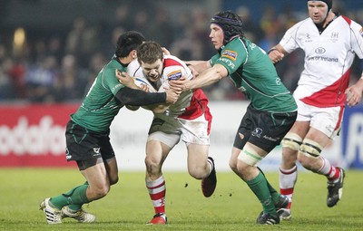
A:
[[[267,173],[278,188],[278,173]],[[300,172],[293,218],[277,226],[255,225],[261,206],[246,184],[231,172],[217,172],[213,196],[201,194],[201,181],[186,172],[165,172],[167,226],[145,226],[153,216],[142,172],[120,172],[110,193],[84,206],[96,223],[64,219],[47,225],[39,203],[76,185],[83,177],[75,168],[0,168],[0,230],[363,230],[363,171],[348,171],[344,195],[336,207],[326,206],[325,178]]]

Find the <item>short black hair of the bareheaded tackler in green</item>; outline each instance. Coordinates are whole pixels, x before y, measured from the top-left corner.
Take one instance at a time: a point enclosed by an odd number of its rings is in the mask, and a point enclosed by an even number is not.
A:
[[[119,58],[127,57],[132,50],[136,50],[144,41],[145,38],[139,32],[129,31],[121,34],[117,40],[116,52],[114,54]]]

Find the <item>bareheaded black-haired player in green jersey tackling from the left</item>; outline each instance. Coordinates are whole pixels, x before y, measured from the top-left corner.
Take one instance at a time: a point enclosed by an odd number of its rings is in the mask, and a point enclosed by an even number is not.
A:
[[[125,72],[136,59],[136,48],[145,41],[138,32],[126,32],[118,41],[113,59],[95,78],[82,105],[71,115],[66,131],[66,159],[77,163],[86,182],[55,197],[47,197],[40,205],[48,224],[60,224],[64,217],[92,223],[93,214],[82,206],[107,195],[118,181],[118,168],[110,143],[110,126],[124,105],[142,106],[173,103],[180,91],[147,92],[125,87],[116,74]]]

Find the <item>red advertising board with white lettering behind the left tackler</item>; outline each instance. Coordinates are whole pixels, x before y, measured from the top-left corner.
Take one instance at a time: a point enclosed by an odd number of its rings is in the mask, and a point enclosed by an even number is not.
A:
[[[0,167],[73,167],[65,125],[79,104],[0,106]]]

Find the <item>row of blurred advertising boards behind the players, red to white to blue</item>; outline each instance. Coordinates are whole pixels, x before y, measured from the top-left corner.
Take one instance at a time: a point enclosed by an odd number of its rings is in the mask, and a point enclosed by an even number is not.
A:
[[[79,104],[0,106],[0,167],[75,167],[65,160],[65,124]],[[220,171],[230,170],[235,132],[248,102],[212,101],[210,155]],[[122,109],[113,120],[111,141],[120,170],[143,170],[147,132],[152,112]],[[277,170],[280,146],[260,162]],[[322,154],[344,168],[363,168],[363,105],[347,108],[340,135]],[[170,153],[164,170],[187,170],[186,147],[181,141]]]

